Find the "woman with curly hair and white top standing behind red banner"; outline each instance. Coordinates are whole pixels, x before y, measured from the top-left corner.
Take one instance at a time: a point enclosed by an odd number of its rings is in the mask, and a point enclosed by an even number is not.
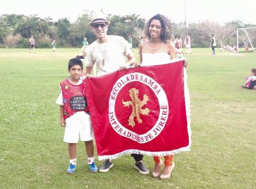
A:
[[[175,45],[170,41],[172,38],[172,26],[169,19],[163,15],[154,15],[147,22],[145,29],[147,42],[140,44],[140,63],[142,66],[153,64],[170,63],[175,58]],[[184,66],[188,65],[188,60],[184,61]],[[164,170],[161,174],[161,158],[154,156],[154,178],[169,179],[174,168],[173,155],[164,156]]]

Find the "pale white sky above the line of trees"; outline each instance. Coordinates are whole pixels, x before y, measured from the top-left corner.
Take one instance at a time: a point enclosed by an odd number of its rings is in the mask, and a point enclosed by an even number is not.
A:
[[[51,17],[54,21],[67,18],[74,22],[85,10],[103,10],[112,15],[140,15],[146,20],[161,13],[173,22],[229,22],[241,20],[256,24],[255,0],[3,0],[0,15],[23,14]],[[2,2],[3,2],[2,1]],[[185,3],[186,2],[186,3]],[[185,5],[186,4],[186,9]]]

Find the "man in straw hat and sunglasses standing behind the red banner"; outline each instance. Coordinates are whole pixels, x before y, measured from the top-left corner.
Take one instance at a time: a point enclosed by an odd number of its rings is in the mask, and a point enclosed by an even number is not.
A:
[[[97,75],[104,75],[116,70],[123,70],[127,66],[132,66],[136,61],[129,48],[129,43],[123,37],[107,34],[109,23],[103,15],[93,17],[90,22],[97,40],[88,47],[86,63],[86,73],[88,74],[92,73],[94,65],[99,70]],[[125,57],[127,57],[127,62]],[[134,168],[141,174],[148,174],[149,171],[142,162],[143,155],[132,154],[131,156],[136,160]],[[111,167],[113,167],[112,160],[106,160],[99,170],[108,172]]]

